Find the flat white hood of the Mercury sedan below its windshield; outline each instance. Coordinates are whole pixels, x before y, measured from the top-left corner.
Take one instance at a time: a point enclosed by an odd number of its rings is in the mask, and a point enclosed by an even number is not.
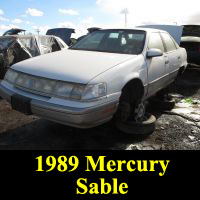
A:
[[[87,84],[99,74],[136,55],[63,50],[19,62],[13,69],[54,80]]]

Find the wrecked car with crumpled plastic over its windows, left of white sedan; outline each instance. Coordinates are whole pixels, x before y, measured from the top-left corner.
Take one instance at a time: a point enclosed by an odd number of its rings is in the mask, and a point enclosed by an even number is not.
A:
[[[0,37],[0,79],[7,69],[20,61],[59,51],[68,46],[55,36],[9,35]]]

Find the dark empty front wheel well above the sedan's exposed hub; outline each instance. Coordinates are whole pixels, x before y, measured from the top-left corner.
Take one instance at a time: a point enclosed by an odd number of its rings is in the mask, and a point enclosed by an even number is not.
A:
[[[140,79],[132,79],[122,89],[122,93],[126,93],[127,91],[133,89],[136,93],[134,96],[137,96],[137,99],[141,100],[144,96],[144,86]]]

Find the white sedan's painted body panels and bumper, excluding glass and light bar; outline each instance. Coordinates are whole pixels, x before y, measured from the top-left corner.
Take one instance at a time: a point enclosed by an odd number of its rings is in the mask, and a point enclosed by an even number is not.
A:
[[[138,28],[146,32],[144,50],[139,55],[63,50],[17,63],[12,69],[29,75],[72,83],[106,83],[107,95],[91,102],[56,97],[46,98],[16,88],[5,80],[0,83],[0,95],[10,101],[13,94],[31,99],[33,114],[74,127],[88,128],[110,120],[117,110],[122,88],[131,80],[140,80],[143,99],[155,95],[172,83],[180,69],[187,66],[185,49],[176,44],[169,52],[149,49],[151,34],[165,31]],[[148,58],[148,51],[160,53]],[[130,91],[133,92],[134,91]]]

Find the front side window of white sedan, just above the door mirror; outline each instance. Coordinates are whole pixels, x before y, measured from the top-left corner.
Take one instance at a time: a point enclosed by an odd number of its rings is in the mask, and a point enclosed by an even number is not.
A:
[[[160,49],[164,52],[164,46],[159,33],[151,33],[148,43],[149,49]]]

